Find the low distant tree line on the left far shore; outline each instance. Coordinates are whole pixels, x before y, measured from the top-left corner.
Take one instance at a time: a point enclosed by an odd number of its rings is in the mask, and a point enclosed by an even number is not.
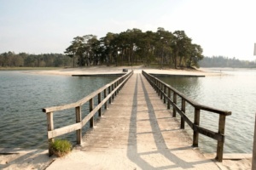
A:
[[[0,54],[0,67],[64,67],[72,66],[73,60],[65,54]]]

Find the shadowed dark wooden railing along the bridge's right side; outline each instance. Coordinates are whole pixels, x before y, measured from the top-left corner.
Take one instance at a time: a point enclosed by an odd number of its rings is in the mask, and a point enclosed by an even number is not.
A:
[[[176,113],[181,116],[180,128],[184,128],[185,122],[188,123],[189,127],[191,127],[194,131],[193,133],[193,146],[198,147],[198,137],[199,133],[206,135],[209,138],[216,139],[218,141],[217,144],[217,161],[223,160],[223,150],[224,150],[224,127],[225,127],[225,118],[226,116],[230,116],[230,111],[221,111],[212,107],[208,107],[206,105],[200,105],[195,101],[187,98],[184,94],[178,92],[175,88],[172,88],[165,82],[160,81],[158,78],[149,75],[145,71],[143,71],[143,76],[147,78],[148,82],[154,88],[156,93],[160,95],[160,99],[164,100],[164,103],[167,101],[167,109],[170,109],[170,105],[172,105],[172,116],[176,117]],[[181,99],[181,107],[177,105],[177,96]],[[192,105],[195,108],[194,122],[189,120],[189,117],[185,115],[186,111],[186,103]],[[212,113],[217,113],[219,115],[218,118],[218,133],[208,130],[207,128],[200,126],[200,111],[209,111]]]

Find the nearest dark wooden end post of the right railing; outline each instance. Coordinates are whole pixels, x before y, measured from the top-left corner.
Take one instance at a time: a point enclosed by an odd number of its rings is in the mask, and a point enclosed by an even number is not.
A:
[[[225,129],[225,115],[219,115],[219,120],[218,120],[218,133],[221,133],[224,135],[224,129]],[[217,156],[216,160],[217,161],[222,161],[223,160],[223,149],[224,149],[224,140],[218,141],[217,144]]]

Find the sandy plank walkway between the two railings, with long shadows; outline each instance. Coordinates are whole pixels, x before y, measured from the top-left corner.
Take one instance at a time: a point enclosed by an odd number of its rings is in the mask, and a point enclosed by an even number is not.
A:
[[[220,169],[191,147],[179,126],[145,77],[134,73],[82,146],[47,169]]]

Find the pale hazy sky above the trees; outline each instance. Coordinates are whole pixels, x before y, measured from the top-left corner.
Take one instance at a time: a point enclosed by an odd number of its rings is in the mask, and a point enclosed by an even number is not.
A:
[[[256,0],[0,0],[0,53],[63,53],[73,37],[183,30],[206,56],[254,60]]]

